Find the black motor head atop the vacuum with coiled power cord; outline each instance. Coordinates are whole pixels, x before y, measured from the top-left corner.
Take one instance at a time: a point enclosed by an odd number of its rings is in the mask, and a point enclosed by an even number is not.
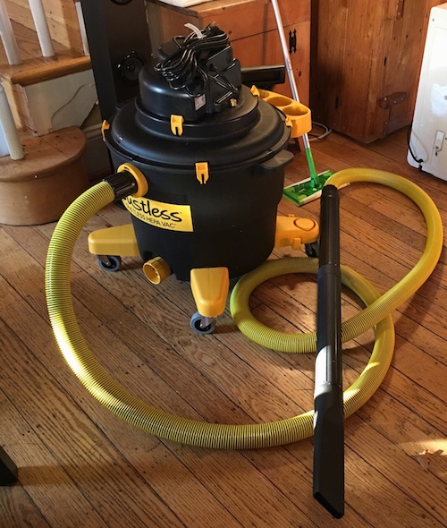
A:
[[[234,105],[242,84],[227,34],[215,24],[161,46],[139,76],[140,97],[150,112],[179,113],[187,121]]]

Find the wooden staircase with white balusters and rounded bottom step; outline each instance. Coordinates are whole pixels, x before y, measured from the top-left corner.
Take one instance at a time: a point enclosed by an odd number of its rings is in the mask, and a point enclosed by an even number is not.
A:
[[[75,3],[44,0],[55,55],[43,57],[27,0],[5,1],[22,63],[10,65],[0,46],[0,77],[25,157],[0,158],[0,222],[41,224],[60,217],[87,187],[80,125],[97,100],[83,51]]]

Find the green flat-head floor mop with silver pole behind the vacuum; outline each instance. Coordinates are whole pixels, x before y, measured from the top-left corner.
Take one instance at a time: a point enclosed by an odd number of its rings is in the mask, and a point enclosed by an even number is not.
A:
[[[297,83],[295,82],[295,77],[293,76],[293,71],[291,69],[291,57],[284,37],[283,20],[279,10],[278,0],[272,0],[272,7],[274,8],[274,18],[276,20],[276,26],[281,40],[281,47],[283,48],[285,68],[291,83],[291,95],[297,102],[299,102]],[[308,201],[319,198],[326,180],[332,175],[331,171],[325,171],[319,175],[316,173],[314,158],[312,157],[312,151],[310,150],[308,133],[304,133],[301,137],[304,143],[306,158],[308,159],[310,177],[302,182],[292,183],[288,187],[285,187],[283,192],[285,198],[299,206],[304,205]]]

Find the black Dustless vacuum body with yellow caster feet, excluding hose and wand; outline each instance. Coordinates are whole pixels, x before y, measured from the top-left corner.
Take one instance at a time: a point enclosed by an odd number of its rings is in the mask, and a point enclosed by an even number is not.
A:
[[[190,281],[199,333],[215,328],[230,279],[264,262],[275,240],[299,246],[318,235],[313,220],[276,220],[288,141],[310,128],[308,108],[255,94],[227,35],[211,24],[162,46],[139,74],[139,97],[103,127],[132,224],[91,234],[89,250],[108,270],[139,254],[150,282],[171,273]],[[135,181],[139,192],[129,194]]]

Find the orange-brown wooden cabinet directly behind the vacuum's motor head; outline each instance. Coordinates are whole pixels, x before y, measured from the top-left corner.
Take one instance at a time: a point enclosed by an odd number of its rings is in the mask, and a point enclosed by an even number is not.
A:
[[[192,22],[199,29],[216,22],[225,31],[233,53],[242,66],[284,64],[274,11],[269,0],[216,0],[190,8],[174,7],[156,0],[147,2],[152,49],[186,35],[184,27]],[[308,104],[310,66],[310,0],[280,0],[286,40],[296,37],[291,48],[291,64],[298,85],[299,98]],[[293,42],[292,42],[293,44]],[[291,96],[289,81],[275,91]]]

